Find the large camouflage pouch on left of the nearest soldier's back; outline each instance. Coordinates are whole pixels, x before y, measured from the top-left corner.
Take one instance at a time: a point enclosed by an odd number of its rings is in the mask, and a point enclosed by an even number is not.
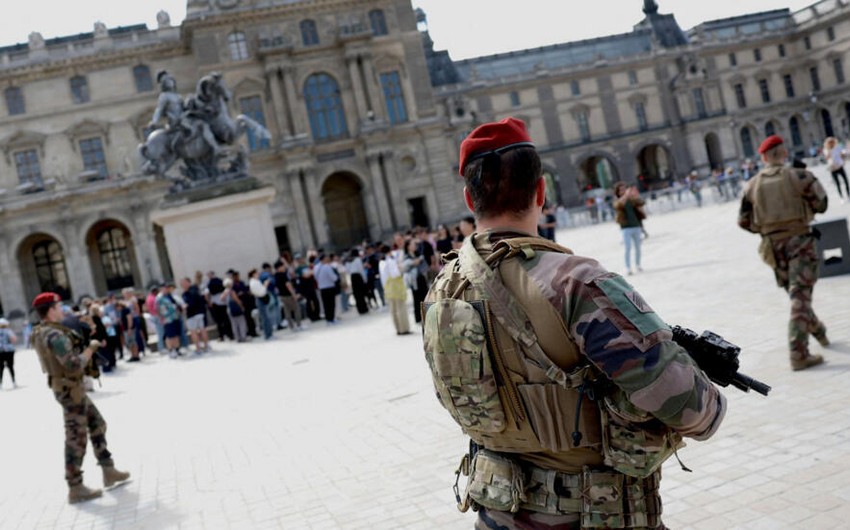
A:
[[[442,405],[464,429],[499,433],[506,417],[488,346],[483,302],[424,304],[425,358]]]

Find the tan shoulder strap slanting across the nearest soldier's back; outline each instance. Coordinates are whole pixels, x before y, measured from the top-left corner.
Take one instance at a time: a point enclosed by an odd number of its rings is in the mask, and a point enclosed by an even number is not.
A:
[[[504,284],[499,280],[498,275],[493,270],[498,267],[499,263],[508,257],[514,257],[520,253],[527,258],[534,255],[534,248],[545,248],[546,250],[554,250],[555,252],[568,253],[568,249],[546,242],[537,238],[514,238],[500,241],[496,244],[492,254],[487,256],[487,259],[482,259],[472,243],[472,238],[467,238],[463,242],[463,246],[459,251],[460,272],[464,277],[463,282],[455,290],[452,298],[459,298],[466,287],[470,284],[477,289],[488,294],[488,303],[496,320],[507,330],[508,334],[525,347],[530,359],[537,366],[546,372],[546,376],[553,382],[565,388],[575,388],[581,385],[583,379],[583,371],[572,372],[567,375],[561,367],[556,365],[546,355],[540,347],[540,343],[528,322],[528,315],[522,309],[519,303],[516,303],[514,296],[508,291]],[[553,247],[557,247],[554,248]],[[529,255],[529,252],[531,253]],[[564,337],[565,340],[570,340],[569,337]]]

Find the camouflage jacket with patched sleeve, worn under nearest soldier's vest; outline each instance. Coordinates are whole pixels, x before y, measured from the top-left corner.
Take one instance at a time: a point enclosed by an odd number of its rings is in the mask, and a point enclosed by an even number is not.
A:
[[[486,257],[496,242],[514,237],[527,234],[488,231],[474,234],[471,244]],[[636,413],[651,415],[683,436],[702,440],[714,434],[725,413],[725,398],[621,276],[594,260],[558,252],[513,259],[527,275],[520,283],[543,294],[562,319],[579,355],[622,390]],[[452,262],[446,264],[429,300],[444,296],[441,277],[450,274],[452,267]],[[426,322],[426,349],[432,339],[427,336],[428,329]],[[500,349],[505,347],[500,344]],[[534,416],[533,411],[529,414]]]

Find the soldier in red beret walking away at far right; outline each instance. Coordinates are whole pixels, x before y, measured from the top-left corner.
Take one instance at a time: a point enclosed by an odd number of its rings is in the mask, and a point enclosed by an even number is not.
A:
[[[812,309],[812,290],[818,280],[818,251],[809,223],[826,211],[827,199],[818,179],[803,168],[785,167],[788,150],[777,135],[759,146],[764,169],[744,185],[738,225],[761,234],[759,255],[791,298],[788,342],[791,369],[805,370],[823,362],[809,353],[809,335],[828,346],[826,326]]]

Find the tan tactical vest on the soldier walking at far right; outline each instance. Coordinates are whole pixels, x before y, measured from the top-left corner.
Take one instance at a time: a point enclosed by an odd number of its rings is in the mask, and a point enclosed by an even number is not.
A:
[[[762,235],[790,237],[809,231],[814,219],[801,197],[804,183],[798,170],[770,166],[755,176],[748,198],[753,204],[753,221]]]

